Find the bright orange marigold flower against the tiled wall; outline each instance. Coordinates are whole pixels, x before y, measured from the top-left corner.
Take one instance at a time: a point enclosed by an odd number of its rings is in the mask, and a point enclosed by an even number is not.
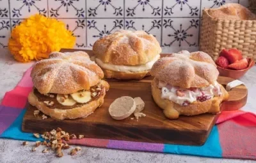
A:
[[[76,37],[65,24],[54,18],[36,14],[17,25],[8,42],[13,57],[20,62],[41,60],[61,48],[72,48]]]

